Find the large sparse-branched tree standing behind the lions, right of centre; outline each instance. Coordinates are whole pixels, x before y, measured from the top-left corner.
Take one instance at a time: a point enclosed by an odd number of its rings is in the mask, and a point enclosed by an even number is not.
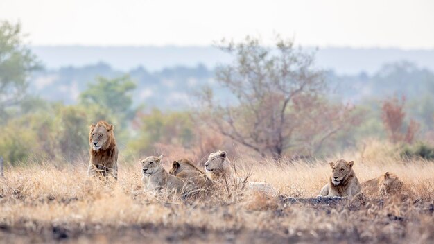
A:
[[[220,48],[234,62],[218,67],[216,80],[235,102],[224,106],[214,101],[210,88],[200,98],[206,106],[202,118],[221,134],[279,159],[288,148],[314,153],[345,127],[347,108],[330,113],[336,109],[322,96],[322,72],[313,67],[313,55],[295,49],[293,42],[277,38],[276,48],[268,49],[247,37],[238,44],[222,42]],[[327,113],[332,116],[321,119]]]

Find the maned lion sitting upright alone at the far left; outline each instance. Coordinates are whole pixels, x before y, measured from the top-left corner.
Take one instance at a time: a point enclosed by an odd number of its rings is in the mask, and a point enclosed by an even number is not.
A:
[[[114,139],[113,125],[99,121],[90,125],[89,154],[90,162],[87,175],[118,178],[118,148]]]

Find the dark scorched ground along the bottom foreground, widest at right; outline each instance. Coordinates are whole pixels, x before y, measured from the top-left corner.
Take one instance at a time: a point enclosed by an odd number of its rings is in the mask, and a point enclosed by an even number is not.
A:
[[[1,243],[434,243],[433,200],[406,200],[400,211],[390,211],[384,199],[351,202],[345,198],[286,198],[262,210],[247,211],[270,214],[277,228],[261,230],[246,227],[211,229],[191,225],[171,226],[143,223],[123,227],[83,226],[77,223],[28,223],[10,227],[0,225]],[[215,207],[224,211],[225,206]],[[346,211],[347,219],[338,219],[329,229],[313,225],[311,229],[286,226],[294,212],[330,216]],[[373,213],[373,214],[372,214]],[[401,214],[397,214],[401,213]],[[345,216],[345,215],[344,215]],[[374,216],[374,217],[372,217]],[[300,218],[300,217],[297,217]],[[424,220],[425,219],[425,222]],[[353,221],[353,220],[356,221]],[[428,222],[426,222],[428,220]],[[348,223],[345,224],[345,221]],[[340,222],[344,224],[340,224]],[[431,222],[431,225],[430,225]],[[36,226],[36,227],[35,227]],[[366,234],[365,230],[374,227]],[[385,231],[389,230],[390,231]],[[378,230],[378,231],[375,231]]]

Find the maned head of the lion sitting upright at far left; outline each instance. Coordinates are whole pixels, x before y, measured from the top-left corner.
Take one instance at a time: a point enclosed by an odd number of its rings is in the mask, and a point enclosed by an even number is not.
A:
[[[114,142],[113,125],[99,121],[90,125],[89,146],[92,150],[105,150]]]

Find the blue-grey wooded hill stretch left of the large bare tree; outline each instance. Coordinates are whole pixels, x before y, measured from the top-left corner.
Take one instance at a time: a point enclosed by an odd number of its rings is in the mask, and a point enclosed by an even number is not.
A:
[[[103,62],[83,67],[49,69],[33,74],[31,92],[49,101],[72,104],[97,76],[114,78],[125,73],[137,84],[133,98],[135,105],[144,103],[147,107],[180,110],[189,105],[193,91],[204,85],[213,87],[216,96],[228,102],[227,93],[214,82],[214,69],[207,69],[202,64],[152,72],[144,67],[123,72]]]

